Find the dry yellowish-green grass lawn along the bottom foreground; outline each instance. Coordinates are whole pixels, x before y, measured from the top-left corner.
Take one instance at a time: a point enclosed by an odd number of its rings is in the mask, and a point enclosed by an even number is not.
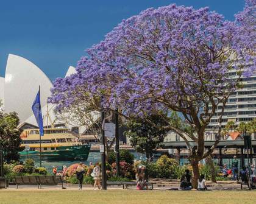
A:
[[[1,204],[160,204],[160,203],[256,203],[256,191],[1,191]]]

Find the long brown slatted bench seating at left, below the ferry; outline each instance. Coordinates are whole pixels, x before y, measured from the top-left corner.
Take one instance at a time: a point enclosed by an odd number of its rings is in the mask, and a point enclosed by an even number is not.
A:
[[[37,185],[37,188],[42,188],[42,185],[46,186],[54,186],[61,184],[63,188],[63,180],[59,175],[25,175],[25,176],[16,176],[14,177],[14,181],[16,183],[16,187],[19,185]]]

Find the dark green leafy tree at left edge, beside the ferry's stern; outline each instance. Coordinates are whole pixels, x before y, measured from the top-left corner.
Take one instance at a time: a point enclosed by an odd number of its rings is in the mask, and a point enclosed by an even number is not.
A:
[[[17,113],[2,113],[0,111],[0,146],[4,150],[4,160],[7,163],[12,160],[18,161],[20,158],[18,152],[21,151],[21,132],[17,129],[19,123],[20,119]]]

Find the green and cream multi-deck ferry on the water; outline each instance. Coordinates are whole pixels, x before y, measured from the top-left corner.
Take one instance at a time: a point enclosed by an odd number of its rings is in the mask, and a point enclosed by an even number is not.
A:
[[[21,132],[21,159],[40,160],[39,129],[25,129]],[[86,161],[90,144],[79,142],[78,136],[68,128],[45,128],[41,136],[41,160],[45,161]]]

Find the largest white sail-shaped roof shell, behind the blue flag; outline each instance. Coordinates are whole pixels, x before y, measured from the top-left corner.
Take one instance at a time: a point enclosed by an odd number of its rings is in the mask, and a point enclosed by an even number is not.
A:
[[[5,71],[4,108],[5,112],[18,113],[20,122],[32,114],[32,104],[40,86],[41,107],[46,105],[52,83],[34,63],[23,57],[9,54]]]

